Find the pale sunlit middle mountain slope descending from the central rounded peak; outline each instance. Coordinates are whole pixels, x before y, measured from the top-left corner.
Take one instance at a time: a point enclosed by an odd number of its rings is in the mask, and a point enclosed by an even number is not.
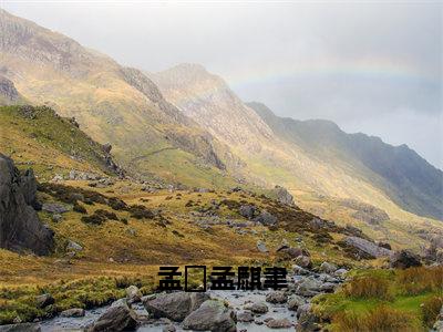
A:
[[[349,152],[340,145],[331,151],[319,138],[311,143],[310,138],[292,139],[286,129],[280,133],[204,68],[181,64],[150,77],[166,100],[230,147],[240,163],[227,165],[229,173],[264,186],[282,185],[300,207],[341,225],[356,225],[379,240],[419,246],[418,238],[439,234],[441,222],[399,207],[388,189],[400,188],[387,183],[383,174],[362,159],[350,163]],[[328,122],[309,124],[309,135],[324,135],[322,141],[330,139],[328,133],[336,127]]]

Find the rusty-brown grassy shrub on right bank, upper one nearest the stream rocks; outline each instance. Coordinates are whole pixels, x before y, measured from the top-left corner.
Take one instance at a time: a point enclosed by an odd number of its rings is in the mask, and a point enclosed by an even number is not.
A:
[[[352,279],[343,287],[348,297],[390,300],[389,281],[380,276],[364,276]]]

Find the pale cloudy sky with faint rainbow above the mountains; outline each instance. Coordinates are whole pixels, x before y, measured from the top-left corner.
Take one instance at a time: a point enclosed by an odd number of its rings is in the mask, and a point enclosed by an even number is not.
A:
[[[6,1],[124,65],[199,63],[245,101],[406,144],[443,168],[440,1]]]

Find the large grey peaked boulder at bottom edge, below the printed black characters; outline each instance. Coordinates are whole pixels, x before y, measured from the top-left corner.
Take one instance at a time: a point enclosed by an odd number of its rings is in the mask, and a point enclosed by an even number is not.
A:
[[[183,329],[194,331],[236,331],[235,312],[218,300],[207,300],[183,321]]]

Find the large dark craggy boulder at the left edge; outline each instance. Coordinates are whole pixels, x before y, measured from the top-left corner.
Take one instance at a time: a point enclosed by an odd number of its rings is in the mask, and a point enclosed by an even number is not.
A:
[[[11,158],[0,154],[0,248],[48,255],[53,231],[35,212],[37,181],[32,169],[20,174]]]

